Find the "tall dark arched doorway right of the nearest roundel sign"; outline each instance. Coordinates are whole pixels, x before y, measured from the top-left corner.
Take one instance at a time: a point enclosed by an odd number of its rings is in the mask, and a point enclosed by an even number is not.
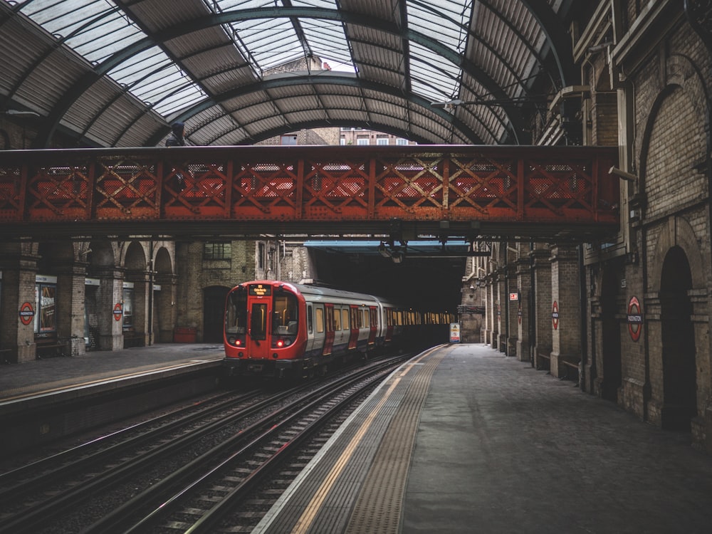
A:
[[[660,320],[663,360],[662,426],[690,430],[697,414],[696,347],[692,324],[690,264],[682,248],[665,256],[660,281]]]

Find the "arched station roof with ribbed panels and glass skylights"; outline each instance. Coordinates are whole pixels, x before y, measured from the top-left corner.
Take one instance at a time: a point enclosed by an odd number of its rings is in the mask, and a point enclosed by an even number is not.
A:
[[[582,7],[583,6],[583,7]],[[0,112],[38,147],[251,145],[317,127],[523,145],[577,83],[578,0],[0,0]]]

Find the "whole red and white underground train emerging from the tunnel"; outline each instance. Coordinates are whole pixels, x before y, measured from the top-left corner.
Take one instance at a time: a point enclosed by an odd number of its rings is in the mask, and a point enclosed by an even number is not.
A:
[[[362,293],[245,282],[226,299],[224,367],[229,377],[311,377],[451,320]]]

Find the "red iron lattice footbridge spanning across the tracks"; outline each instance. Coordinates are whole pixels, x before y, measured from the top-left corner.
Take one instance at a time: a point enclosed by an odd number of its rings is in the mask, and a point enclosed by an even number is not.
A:
[[[171,147],[0,152],[5,239],[614,234],[615,147]]]

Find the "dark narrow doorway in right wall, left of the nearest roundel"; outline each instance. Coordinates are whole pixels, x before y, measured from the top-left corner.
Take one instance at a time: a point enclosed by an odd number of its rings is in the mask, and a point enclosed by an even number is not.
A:
[[[622,384],[621,371],[621,324],[616,318],[619,313],[616,304],[618,295],[617,276],[612,269],[603,272],[601,288],[601,326],[603,380],[601,397],[618,401],[618,390]]]

